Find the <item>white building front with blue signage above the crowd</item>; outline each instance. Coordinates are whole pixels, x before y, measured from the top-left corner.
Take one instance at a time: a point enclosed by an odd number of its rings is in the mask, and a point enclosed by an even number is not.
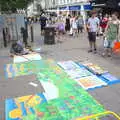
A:
[[[89,0],[34,0],[28,7],[28,15],[36,15],[40,10],[49,9],[77,13],[75,11],[89,11],[91,6]]]

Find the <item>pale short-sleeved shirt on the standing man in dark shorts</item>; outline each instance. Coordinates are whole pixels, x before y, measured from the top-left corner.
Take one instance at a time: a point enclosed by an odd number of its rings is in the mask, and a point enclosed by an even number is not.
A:
[[[100,20],[97,17],[89,18],[88,19],[88,25],[90,27],[89,32],[97,32],[99,23]]]

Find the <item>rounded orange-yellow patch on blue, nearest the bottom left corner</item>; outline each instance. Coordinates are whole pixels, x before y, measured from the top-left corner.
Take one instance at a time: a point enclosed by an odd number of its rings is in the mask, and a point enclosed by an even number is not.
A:
[[[9,113],[11,119],[22,118],[22,111],[20,109],[15,109]]]

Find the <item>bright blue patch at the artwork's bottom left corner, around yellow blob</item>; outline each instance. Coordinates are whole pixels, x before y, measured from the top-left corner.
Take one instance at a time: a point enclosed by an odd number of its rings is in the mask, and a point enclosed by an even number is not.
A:
[[[16,119],[9,118],[9,112],[16,109],[16,108],[17,108],[17,105],[16,105],[16,103],[13,99],[7,99],[5,101],[5,117],[6,117],[6,120],[19,120],[18,118],[16,118]]]

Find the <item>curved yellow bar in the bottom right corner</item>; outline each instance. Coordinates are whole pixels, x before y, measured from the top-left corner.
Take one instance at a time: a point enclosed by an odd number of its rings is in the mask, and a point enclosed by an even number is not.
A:
[[[107,116],[107,115],[113,115],[115,118],[117,118],[117,120],[120,120],[120,116],[114,112],[111,112],[111,111],[106,111],[103,113],[99,113],[99,114],[95,114],[95,115],[91,115],[91,116],[86,116],[84,118],[77,118],[76,120],[91,120],[91,119],[100,120],[99,119],[100,117]]]

